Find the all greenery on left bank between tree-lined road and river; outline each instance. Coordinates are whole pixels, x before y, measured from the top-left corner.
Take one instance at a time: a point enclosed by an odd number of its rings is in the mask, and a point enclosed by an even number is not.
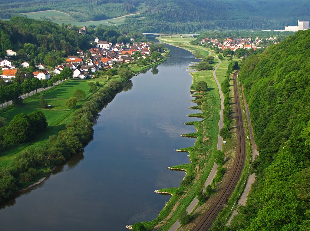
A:
[[[166,58],[162,57],[157,62],[135,67],[135,72],[139,73],[141,70],[158,65],[165,60]],[[116,72],[110,79],[69,79],[45,92],[26,98],[19,107],[8,106],[2,109],[1,116],[4,118],[0,117],[2,122],[0,129],[0,140],[2,141],[0,202],[11,197],[18,189],[25,188],[50,174],[54,166],[63,163],[72,154],[82,150],[92,138],[92,125],[97,113],[114,98],[122,87],[130,88],[132,84],[130,79],[133,74],[126,66],[121,66],[118,74]],[[72,74],[72,71],[70,73]],[[58,76],[60,80],[63,77],[62,75]],[[72,76],[70,75],[70,77]],[[55,82],[59,80],[54,77],[52,79]],[[105,85],[97,90],[100,84]],[[18,83],[9,86],[13,85],[17,86]],[[18,97],[18,93],[15,94],[16,97]],[[53,105],[53,109],[45,109],[46,101]],[[38,109],[37,107],[41,107],[40,110],[32,114],[37,117],[43,113],[46,115],[46,117],[43,115],[45,121],[49,123],[46,132],[39,138],[37,133],[40,129],[33,131],[28,127],[29,130],[25,129],[24,131],[24,140],[9,139],[8,137],[12,135],[8,131],[13,126],[11,123],[15,119],[14,116],[17,114],[17,116],[27,117],[27,115],[18,113],[32,112]],[[75,109],[76,107],[78,109]],[[6,126],[5,118],[13,118],[8,126]],[[24,118],[24,120],[26,119]],[[29,124],[35,125],[31,121]],[[31,141],[30,137],[34,140]],[[12,144],[5,141],[10,141]],[[29,145],[31,146],[29,147]],[[16,155],[16,153],[18,154]]]

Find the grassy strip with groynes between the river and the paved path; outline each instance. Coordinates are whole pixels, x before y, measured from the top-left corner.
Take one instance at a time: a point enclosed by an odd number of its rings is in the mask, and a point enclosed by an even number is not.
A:
[[[169,39],[171,38],[169,37]],[[170,44],[185,48],[186,46],[182,43],[182,40],[180,41],[175,41],[174,44]],[[199,52],[201,56],[205,54],[209,55],[209,52],[206,50],[192,49]],[[212,65],[216,66],[217,63]],[[158,230],[168,230],[170,228],[178,219],[179,215],[192,202],[194,197],[196,197],[214,163],[212,153],[216,150],[217,134],[219,130],[217,125],[220,110],[219,91],[213,78],[213,70],[194,72],[191,73],[191,75],[193,76],[192,87],[195,86],[197,81],[201,80],[206,81],[209,86],[206,92],[193,94],[193,100],[196,100],[198,104],[201,105],[202,111],[197,111],[198,113],[191,114],[190,116],[203,117],[204,119],[186,123],[188,125],[195,125],[197,133],[184,134],[184,136],[197,137],[197,141],[193,147],[179,148],[178,150],[181,152],[189,152],[191,163],[170,167],[171,169],[185,170],[186,176],[179,188],[165,188],[159,190],[159,192],[169,193],[173,196],[155,220],[148,223],[144,222],[145,226],[149,229],[157,228]]]

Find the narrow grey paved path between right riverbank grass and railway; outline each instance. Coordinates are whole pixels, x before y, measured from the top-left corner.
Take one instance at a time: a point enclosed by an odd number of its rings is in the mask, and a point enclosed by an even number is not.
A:
[[[210,52],[210,51],[209,51]],[[210,52],[211,55],[211,52]],[[216,57],[217,58],[217,57]],[[219,81],[216,78],[216,70],[218,69],[219,65],[221,64],[221,61],[219,60],[219,58],[217,58],[217,60],[219,61],[219,64],[215,67],[214,71],[213,71],[213,77],[215,79],[215,82],[217,84],[217,87],[219,88],[219,97],[221,98],[221,110],[219,113],[219,131],[223,128],[224,124],[223,124],[223,109],[224,109],[224,97],[223,97],[223,93],[222,93],[222,88],[221,85],[219,84]],[[223,148],[223,138],[218,135],[217,138],[217,150],[221,150],[222,151]],[[204,184],[204,186],[206,187],[207,185],[211,184],[213,181],[213,178],[215,177],[215,174],[217,172],[217,168],[219,167],[219,165],[213,164],[213,167],[211,169],[211,172]],[[197,196],[193,199],[193,201],[189,204],[189,206],[187,207],[186,211],[188,213],[191,213],[193,211],[193,209],[197,206],[198,204],[198,199]],[[171,227],[170,229],[168,229],[168,231],[176,231],[179,227],[180,227],[180,222],[179,220],[177,220]]]

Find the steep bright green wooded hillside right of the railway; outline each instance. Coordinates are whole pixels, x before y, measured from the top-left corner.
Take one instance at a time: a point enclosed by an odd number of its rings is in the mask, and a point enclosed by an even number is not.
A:
[[[256,182],[229,230],[309,230],[310,30],[248,57],[239,77],[259,156]]]

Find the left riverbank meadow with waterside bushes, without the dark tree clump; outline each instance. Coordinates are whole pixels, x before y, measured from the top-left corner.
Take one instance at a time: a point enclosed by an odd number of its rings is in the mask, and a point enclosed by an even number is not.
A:
[[[158,65],[165,60],[165,58],[162,58],[158,62],[151,64]],[[143,67],[139,67],[137,71],[139,72],[141,69]],[[88,84],[95,81],[100,83],[100,87],[96,92],[89,92],[90,87]],[[97,116],[97,113],[102,110],[104,105],[113,100],[123,85],[123,79],[119,75],[115,75],[110,79],[69,79],[47,91],[26,98],[20,107],[8,106],[1,109],[0,116],[7,117],[8,122],[17,114],[41,111],[47,119],[48,127],[31,142],[17,145],[10,144],[1,152],[0,170],[3,169],[7,177],[12,178],[12,185],[3,186],[3,190],[7,191],[7,193],[2,190],[4,193],[2,192],[0,195],[0,202],[10,197],[17,190],[26,188],[43,176],[50,174],[55,165],[61,164],[72,154],[81,151],[92,138],[93,118]],[[77,102],[75,109],[69,109],[65,106],[65,102],[72,97],[76,89],[83,90],[86,97]],[[40,97],[43,97],[47,104],[51,104],[52,108],[41,108]],[[91,117],[90,113],[92,114]],[[82,130],[79,130],[81,128]],[[55,142],[60,143],[55,144]],[[55,151],[56,149],[59,149],[59,152]],[[57,156],[53,156],[57,152]],[[42,157],[42,160],[35,159],[37,155],[45,157]],[[18,156],[17,159],[16,156]],[[43,160],[46,160],[46,163]],[[21,168],[18,161],[23,163]],[[29,171],[27,171],[28,169]]]

